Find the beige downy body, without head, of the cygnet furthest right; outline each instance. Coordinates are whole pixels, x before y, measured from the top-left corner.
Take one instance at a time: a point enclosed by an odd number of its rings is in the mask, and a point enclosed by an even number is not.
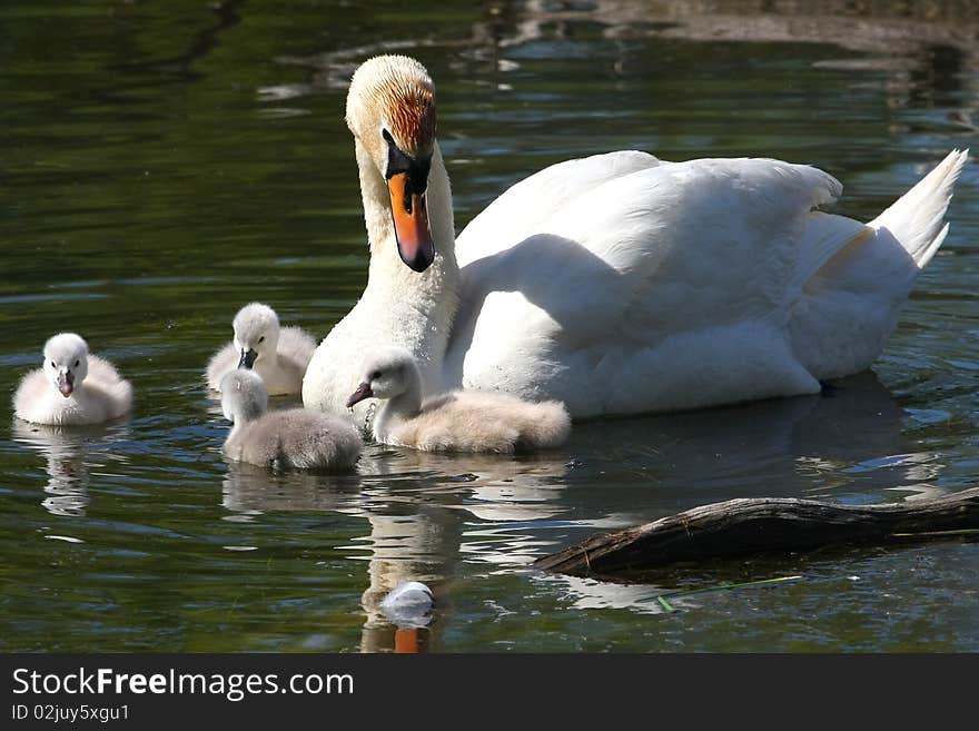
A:
[[[456,391],[426,401],[422,413],[392,429],[393,442],[428,452],[511,454],[563,443],[571,417],[560,402]]]

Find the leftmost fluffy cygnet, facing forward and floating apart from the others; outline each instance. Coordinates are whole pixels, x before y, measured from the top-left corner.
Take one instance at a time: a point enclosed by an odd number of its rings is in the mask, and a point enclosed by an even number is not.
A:
[[[101,424],[131,407],[129,382],[75,333],[48,339],[44,365],[28,373],[13,395],[14,415],[34,424]]]

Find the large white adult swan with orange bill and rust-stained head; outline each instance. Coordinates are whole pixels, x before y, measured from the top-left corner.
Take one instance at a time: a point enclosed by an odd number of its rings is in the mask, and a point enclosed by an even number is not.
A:
[[[576,418],[817,393],[880,353],[967,159],[862,224],[817,210],[842,187],[809,166],[610,152],[517,182],[455,241],[422,65],[363,63],[346,119],[368,281],[303,382],[307,406],[334,412],[377,342],[416,357],[426,393],[554,398]]]

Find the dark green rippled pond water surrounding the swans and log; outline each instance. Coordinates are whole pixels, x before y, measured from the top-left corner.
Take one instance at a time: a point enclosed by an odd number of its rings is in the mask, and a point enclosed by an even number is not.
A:
[[[435,79],[459,227],[547,164],[620,148],[813,164],[846,186],[835,210],[869,220],[950,149],[979,149],[975,10],[860,7],[878,4],[4,2],[0,650],[390,651],[379,600],[417,579],[437,595],[431,651],[979,651],[975,542],[633,584],[528,565],[732,497],[973,485],[975,158],[873,372],[828,395],[586,423],[522,458],[372,446],[356,475],[320,476],[226,463],[201,379],[243,304],[319,338],[359,296],[343,109],[367,56],[409,53]],[[131,379],[130,419],[13,419],[8,396],[60,330]],[[656,601],[785,575],[801,579]]]

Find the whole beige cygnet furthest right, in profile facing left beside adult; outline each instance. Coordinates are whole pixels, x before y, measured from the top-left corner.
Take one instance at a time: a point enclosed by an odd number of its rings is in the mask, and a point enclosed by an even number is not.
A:
[[[369,356],[347,407],[378,398],[370,429],[385,444],[427,452],[497,452],[553,447],[567,438],[571,418],[556,401],[527,402],[503,393],[452,391],[422,402],[415,358],[394,348]]]

